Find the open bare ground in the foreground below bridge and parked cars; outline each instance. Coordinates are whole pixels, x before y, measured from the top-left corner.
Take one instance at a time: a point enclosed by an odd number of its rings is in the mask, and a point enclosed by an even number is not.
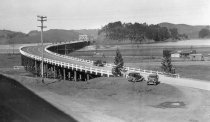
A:
[[[88,82],[15,77],[79,121],[203,122],[210,121],[210,93],[159,84],[130,83],[123,78]]]

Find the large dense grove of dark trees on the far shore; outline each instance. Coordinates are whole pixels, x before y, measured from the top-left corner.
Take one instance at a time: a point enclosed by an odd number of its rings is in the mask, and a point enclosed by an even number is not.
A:
[[[187,38],[185,34],[179,34],[176,28],[168,29],[159,25],[146,23],[122,23],[121,21],[109,23],[99,30],[109,40],[131,40],[142,43],[145,40],[165,41],[169,38]]]

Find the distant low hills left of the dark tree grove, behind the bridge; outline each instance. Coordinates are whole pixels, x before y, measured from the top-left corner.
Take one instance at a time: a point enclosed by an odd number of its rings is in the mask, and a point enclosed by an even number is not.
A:
[[[80,34],[87,34],[89,37],[97,38],[97,29],[82,29],[82,30],[63,30],[50,29],[44,31],[44,42],[61,42],[65,40],[78,40]],[[41,38],[40,31],[32,30],[28,34],[0,30],[0,44],[11,43],[39,43]]]

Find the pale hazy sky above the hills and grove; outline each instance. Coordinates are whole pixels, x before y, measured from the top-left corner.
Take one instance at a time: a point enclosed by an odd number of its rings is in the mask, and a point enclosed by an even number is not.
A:
[[[210,0],[1,0],[0,29],[99,29],[109,22],[210,25]]]

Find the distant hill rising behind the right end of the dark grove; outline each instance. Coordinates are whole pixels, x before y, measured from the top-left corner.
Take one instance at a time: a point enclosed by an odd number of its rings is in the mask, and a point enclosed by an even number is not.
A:
[[[172,24],[172,23],[160,23],[161,27],[177,28],[180,34],[187,34],[189,38],[198,38],[198,33],[201,29],[206,28],[207,25],[192,26],[186,24]]]

